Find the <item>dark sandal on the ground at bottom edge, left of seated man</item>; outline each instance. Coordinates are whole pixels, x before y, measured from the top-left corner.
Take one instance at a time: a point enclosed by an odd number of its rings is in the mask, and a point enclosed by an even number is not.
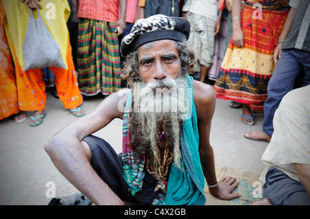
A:
[[[92,201],[81,192],[77,192],[71,196],[52,198],[48,205],[92,205]]]

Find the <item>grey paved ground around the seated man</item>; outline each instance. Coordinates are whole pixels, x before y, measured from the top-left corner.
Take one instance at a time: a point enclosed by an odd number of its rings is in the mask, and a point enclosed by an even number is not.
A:
[[[87,97],[83,108],[90,113],[102,100],[102,95]],[[61,101],[50,93],[45,111],[47,116],[38,127],[30,127],[26,122],[15,124],[10,118],[0,121],[0,205],[47,205],[50,198],[46,194],[50,194],[52,185],[55,185],[56,196],[76,192],[54,168],[43,146],[56,132],[78,118],[70,115]],[[261,130],[263,116],[254,114],[256,125],[247,126],[240,121],[240,111],[229,108],[229,101],[216,102],[211,128],[216,166],[260,174],[264,168],[260,158],[267,143],[249,141],[243,133]],[[114,120],[95,135],[107,140],[116,152],[121,152],[121,126],[120,119]]]

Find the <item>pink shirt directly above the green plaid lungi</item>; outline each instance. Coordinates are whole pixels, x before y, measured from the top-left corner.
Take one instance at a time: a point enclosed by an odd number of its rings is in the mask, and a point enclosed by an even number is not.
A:
[[[115,23],[118,0],[79,0],[78,17]]]

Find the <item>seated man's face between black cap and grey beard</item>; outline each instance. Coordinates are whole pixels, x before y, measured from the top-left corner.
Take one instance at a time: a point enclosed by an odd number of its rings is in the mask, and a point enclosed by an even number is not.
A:
[[[141,46],[138,50],[138,71],[145,83],[156,80],[176,79],[180,75],[180,57],[176,41],[154,41],[152,47]],[[161,92],[161,89],[156,89]]]

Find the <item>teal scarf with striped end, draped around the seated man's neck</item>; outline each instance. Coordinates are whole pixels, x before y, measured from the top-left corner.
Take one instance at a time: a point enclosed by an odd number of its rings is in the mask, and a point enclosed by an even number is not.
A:
[[[192,96],[192,77],[187,75],[189,84],[189,100],[192,101],[192,117],[183,121],[183,130],[180,136],[180,145],[183,154],[183,170],[180,171],[175,165],[169,174],[166,196],[159,196],[154,200],[154,205],[204,205],[205,177],[200,164],[198,152],[199,136],[197,126],[196,107]],[[132,91],[126,102],[126,108],[123,118],[123,173],[130,192],[134,196],[136,192],[142,189],[143,178],[145,176],[144,164],[145,157],[140,163],[134,160],[134,152],[127,145],[128,136],[128,112],[132,105]]]

